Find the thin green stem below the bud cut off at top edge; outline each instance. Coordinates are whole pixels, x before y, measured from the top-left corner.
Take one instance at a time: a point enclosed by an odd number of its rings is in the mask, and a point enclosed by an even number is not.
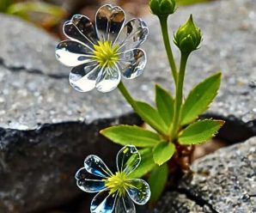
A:
[[[175,85],[177,84],[177,68],[174,61],[174,54],[170,45],[169,34],[168,34],[168,15],[159,16],[161,28],[162,28],[162,39],[168,55],[168,61],[174,76]]]

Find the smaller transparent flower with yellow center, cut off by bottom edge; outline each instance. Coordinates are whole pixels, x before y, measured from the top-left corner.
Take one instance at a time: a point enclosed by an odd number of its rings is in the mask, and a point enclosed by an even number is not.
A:
[[[88,155],[84,167],[76,173],[76,184],[84,192],[99,192],[91,202],[91,213],[135,213],[133,202],[143,205],[149,201],[148,183],[129,178],[140,161],[136,147],[127,145],[119,150],[118,171],[113,174],[101,158]]]

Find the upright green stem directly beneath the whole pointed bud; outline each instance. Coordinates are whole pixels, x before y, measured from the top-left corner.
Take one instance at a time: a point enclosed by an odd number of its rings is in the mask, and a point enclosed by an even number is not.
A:
[[[176,86],[176,96],[174,102],[174,121],[171,128],[171,139],[175,139],[177,137],[180,125],[180,109],[182,106],[182,99],[183,99],[183,83],[184,83],[184,76],[186,70],[186,62],[189,54],[181,53],[180,58],[180,72],[178,75],[178,82]]]

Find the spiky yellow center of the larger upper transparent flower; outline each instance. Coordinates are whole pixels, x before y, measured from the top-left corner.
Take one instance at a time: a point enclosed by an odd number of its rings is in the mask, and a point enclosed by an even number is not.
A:
[[[112,45],[109,41],[98,41],[94,45],[94,59],[101,65],[101,67],[113,67],[119,59],[119,46]]]

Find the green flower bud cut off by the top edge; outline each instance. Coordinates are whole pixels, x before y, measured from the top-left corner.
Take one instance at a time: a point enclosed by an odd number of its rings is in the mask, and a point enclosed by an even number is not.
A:
[[[157,16],[171,15],[175,11],[175,0],[150,0],[151,13]]]

